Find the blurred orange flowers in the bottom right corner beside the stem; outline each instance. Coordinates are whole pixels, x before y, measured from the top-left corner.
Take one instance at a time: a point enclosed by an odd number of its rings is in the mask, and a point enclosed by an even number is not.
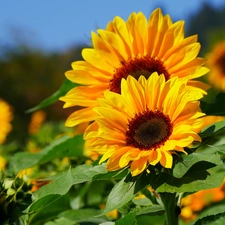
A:
[[[181,218],[186,221],[194,220],[198,213],[213,203],[225,198],[225,182],[220,187],[198,191],[184,197],[181,201]]]

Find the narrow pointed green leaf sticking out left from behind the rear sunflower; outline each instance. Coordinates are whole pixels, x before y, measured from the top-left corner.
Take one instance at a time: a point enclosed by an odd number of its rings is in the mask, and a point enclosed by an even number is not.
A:
[[[49,105],[52,105],[53,103],[57,102],[60,97],[64,96],[69,90],[76,87],[77,84],[72,83],[68,79],[65,79],[60,88],[53,93],[50,97],[44,99],[42,102],[40,102],[37,106],[26,110],[26,113],[31,113],[40,109],[43,109]]]

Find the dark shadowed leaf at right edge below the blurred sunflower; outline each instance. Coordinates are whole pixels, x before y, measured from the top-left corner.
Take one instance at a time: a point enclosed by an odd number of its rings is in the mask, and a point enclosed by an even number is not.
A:
[[[225,115],[225,93],[219,93],[212,103],[201,102],[201,110],[207,115]]]

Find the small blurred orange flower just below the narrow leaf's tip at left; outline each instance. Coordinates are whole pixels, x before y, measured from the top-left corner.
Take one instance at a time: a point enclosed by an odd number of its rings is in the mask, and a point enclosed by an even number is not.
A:
[[[30,134],[35,134],[38,132],[38,130],[40,129],[41,125],[43,124],[43,122],[46,119],[46,113],[43,110],[40,111],[36,111],[32,114],[31,116],[31,121],[29,124],[29,133]]]

